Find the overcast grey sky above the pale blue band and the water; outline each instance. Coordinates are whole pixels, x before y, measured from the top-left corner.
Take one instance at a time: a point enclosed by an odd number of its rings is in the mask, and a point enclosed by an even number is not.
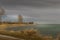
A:
[[[24,15],[41,23],[60,24],[60,0],[0,0],[7,15]]]

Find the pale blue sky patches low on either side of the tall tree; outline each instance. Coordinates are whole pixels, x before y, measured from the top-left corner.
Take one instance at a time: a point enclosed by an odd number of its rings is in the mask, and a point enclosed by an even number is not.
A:
[[[33,18],[33,17],[22,16],[22,18],[23,18],[23,20],[22,20],[23,22],[35,22],[35,21],[37,21],[37,19]],[[18,17],[18,15],[3,15],[2,21],[19,22],[19,17]]]

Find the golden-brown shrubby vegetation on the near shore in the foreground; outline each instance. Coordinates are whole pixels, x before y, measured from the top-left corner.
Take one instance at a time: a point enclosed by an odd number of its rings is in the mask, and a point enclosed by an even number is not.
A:
[[[53,40],[52,36],[42,36],[37,30],[22,30],[22,31],[0,31],[2,35],[13,36],[24,40]],[[57,38],[59,40],[59,38]]]

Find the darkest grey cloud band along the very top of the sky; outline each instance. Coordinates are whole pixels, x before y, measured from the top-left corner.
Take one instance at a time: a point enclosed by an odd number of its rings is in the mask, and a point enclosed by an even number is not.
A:
[[[60,4],[60,0],[0,0],[2,5],[47,7]]]

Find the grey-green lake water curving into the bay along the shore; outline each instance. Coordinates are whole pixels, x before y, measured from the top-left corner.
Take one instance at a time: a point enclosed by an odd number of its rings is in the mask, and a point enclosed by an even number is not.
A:
[[[7,30],[24,30],[24,29],[37,29],[41,34],[56,36],[60,33],[60,24],[40,24],[36,26],[25,26],[25,27],[11,27],[6,28]]]

